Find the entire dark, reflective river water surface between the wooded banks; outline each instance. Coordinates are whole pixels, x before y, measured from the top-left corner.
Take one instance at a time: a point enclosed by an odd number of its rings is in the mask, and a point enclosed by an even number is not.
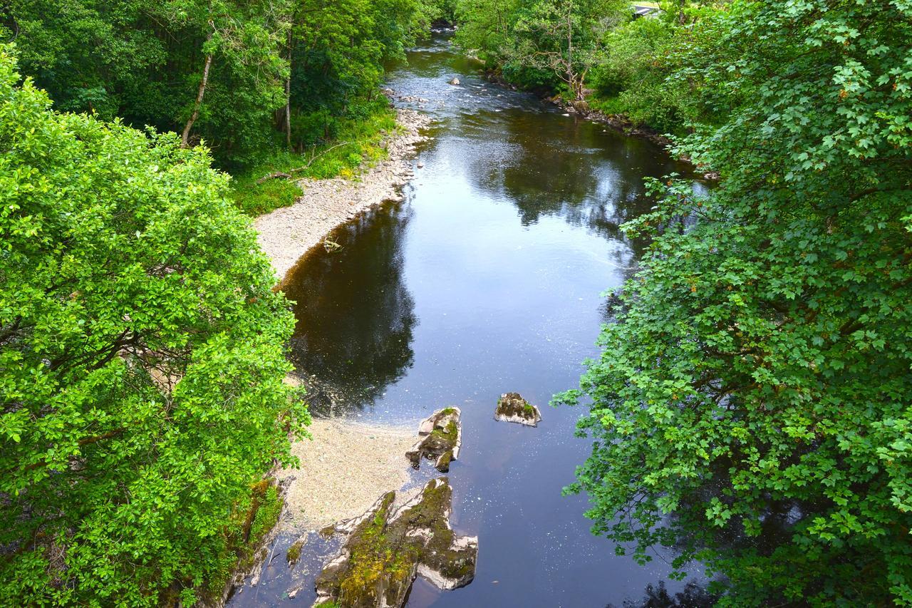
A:
[[[448,84],[454,76],[460,86]],[[419,578],[409,606],[639,603],[649,583],[667,580],[674,555],[639,566],[590,533],[586,497],[561,496],[591,448],[574,436],[583,411],[548,402],[577,386],[597,354],[600,294],[631,275],[642,251],[618,226],[651,206],[643,178],[686,170],[649,142],[485,81],[445,37],[409,51],[389,87],[422,100],[399,105],[430,114],[433,140],[405,200],[337,229],[342,248],[313,250],[286,288],[298,302],[295,365],[314,376],[311,409],[417,425],[461,407],[451,520],[478,536],[478,569],[450,592]],[[542,410],[537,428],[493,420],[511,391]],[[231,604],[313,602],[316,571],[294,600],[285,596],[290,542],[279,538],[280,557]]]

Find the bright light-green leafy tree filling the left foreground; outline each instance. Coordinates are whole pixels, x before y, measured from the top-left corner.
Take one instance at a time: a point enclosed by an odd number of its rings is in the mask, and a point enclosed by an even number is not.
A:
[[[9,53],[0,601],[192,603],[250,484],[294,463],[294,318],[204,148],[52,112]]]

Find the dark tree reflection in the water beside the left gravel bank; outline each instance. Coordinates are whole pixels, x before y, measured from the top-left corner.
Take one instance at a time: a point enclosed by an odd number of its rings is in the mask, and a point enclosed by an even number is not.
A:
[[[316,247],[286,279],[291,359],[316,414],[370,407],[412,365],[418,320],[402,274],[411,215],[406,204],[361,215],[333,232],[337,249]]]

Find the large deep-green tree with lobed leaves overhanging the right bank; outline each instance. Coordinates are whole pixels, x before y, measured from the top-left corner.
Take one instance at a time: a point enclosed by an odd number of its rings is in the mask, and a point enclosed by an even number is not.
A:
[[[581,389],[595,531],[730,605],[912,603],[912,5],[733,3],[675,79],[731,116],[654,183]],[[623,550],[623,549],[621,549]]]

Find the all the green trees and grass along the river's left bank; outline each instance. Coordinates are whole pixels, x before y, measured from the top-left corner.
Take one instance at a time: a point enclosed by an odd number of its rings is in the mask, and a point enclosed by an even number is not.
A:
[[[265,173],[382,153],[382,62],[438,9],[3,10],[0,603],[217,597],[308,422],[283,383],[295,320],[240,210],[293,198]]]

